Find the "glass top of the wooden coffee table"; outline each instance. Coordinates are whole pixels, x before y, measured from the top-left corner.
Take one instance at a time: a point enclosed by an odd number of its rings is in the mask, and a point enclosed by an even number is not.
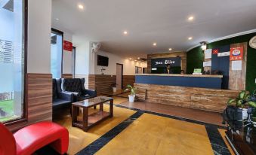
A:
[[[108,102],[112,99],[113,98],[111,98],[111,97],[97,96],[92,99],[85,99],[83,101],[74,102],[74,103],[72,103],[72,105],[77,105],[77,106],[81,106],[81,107],[90,107],[90,106],[98,105],[99,103]]]

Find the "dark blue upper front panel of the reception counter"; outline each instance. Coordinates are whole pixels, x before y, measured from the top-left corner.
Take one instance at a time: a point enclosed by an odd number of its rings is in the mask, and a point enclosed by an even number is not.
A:
[[[136,74],[135,83],[221,89],[222,78],[209,74]]]

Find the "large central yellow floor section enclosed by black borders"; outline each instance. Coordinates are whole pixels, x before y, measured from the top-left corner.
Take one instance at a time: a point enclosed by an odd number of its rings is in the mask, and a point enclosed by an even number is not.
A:
[[[205,155],[213,150],[205,126],[143,114],[96,154]]]

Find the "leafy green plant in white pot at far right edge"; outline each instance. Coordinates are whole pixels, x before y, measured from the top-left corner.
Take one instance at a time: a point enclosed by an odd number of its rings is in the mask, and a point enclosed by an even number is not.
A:
[[[242,109],[242,119],[245,120],[248,117],[247,108],[245,108],[245,106],[255,108],[256,102],[251,101],[250,93],[248,93],[245,90],[242,90],[236,99],[229,99],[227,105],[233,105],[236,108]]]

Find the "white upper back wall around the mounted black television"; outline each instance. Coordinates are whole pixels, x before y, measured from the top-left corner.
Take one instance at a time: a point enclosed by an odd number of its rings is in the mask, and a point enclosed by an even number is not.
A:
[[[105,68],[106,70],[103,71],[104,74],[116,74],[116,63],[123,64],[123,74],[124,75],[134,75],[135,74],[135,66],[137,67],[143,67],[147,68],[147,63],[140,63],[140,62],[134,62],[129,60],[128,58],[124,58],[122,56],[117,56],[113,53],[107,53],[104,51],[99,51],[97,53],[94,53],[94,74],[101,74],[100,71],[101,68]],[[97,54],[102,56],[109,57],[109,66],[102,67],[97,65]]]

